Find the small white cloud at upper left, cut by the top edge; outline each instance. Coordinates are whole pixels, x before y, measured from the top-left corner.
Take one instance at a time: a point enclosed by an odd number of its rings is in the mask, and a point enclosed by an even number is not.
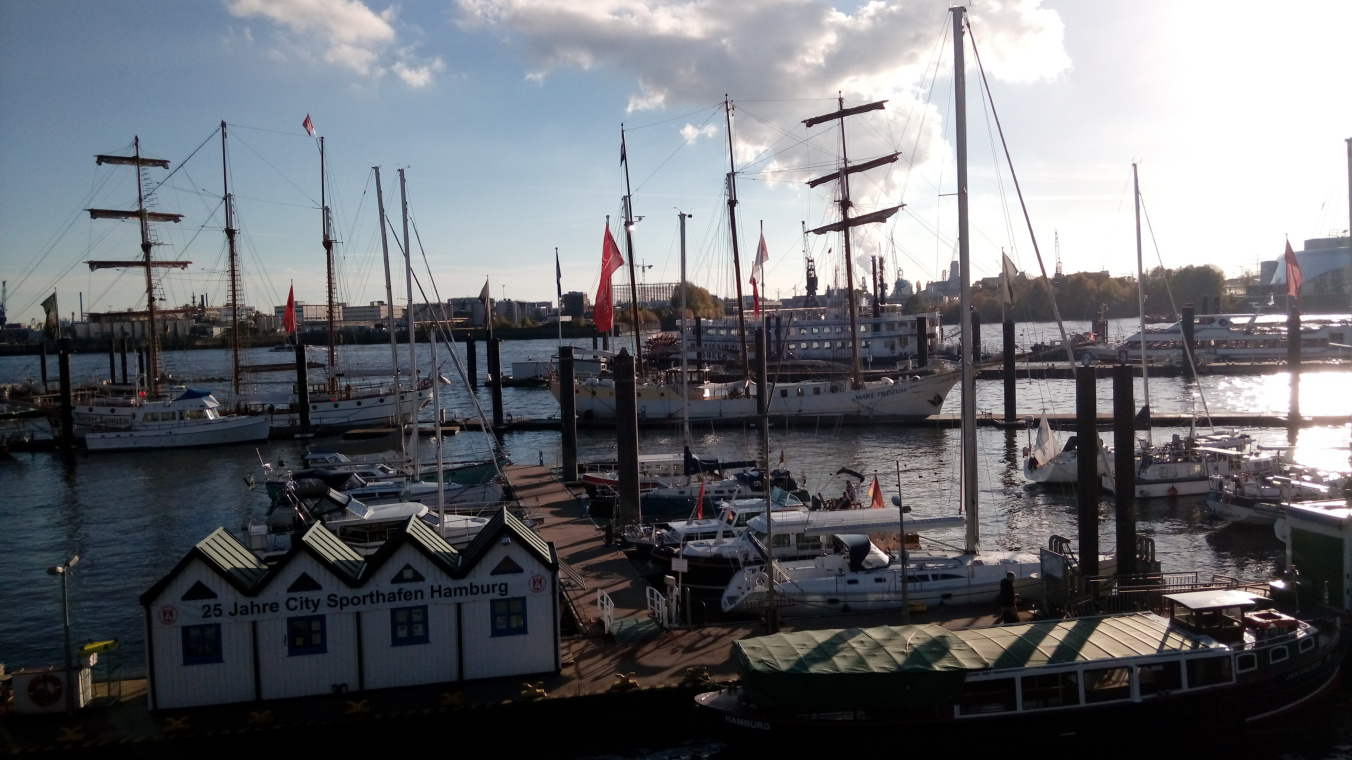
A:
[[[396,5],[376,12],[360,0],[226,0],[241,19],[265,19],[289,34],[284,43],[364,77],[393,72],[412,88],[427,87],[445,64],[418,60],[399,47]],[[274,50],[274,55],[281,54]]]

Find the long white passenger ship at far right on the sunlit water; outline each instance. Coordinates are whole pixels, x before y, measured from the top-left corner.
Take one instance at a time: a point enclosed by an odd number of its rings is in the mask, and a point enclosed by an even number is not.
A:
[[[1284,314],[1205,314],[1192,322],[1199,361],[1282,361],[1286,358]],[[1146,329],[1149,361],[1180,361],[1183,323]],[[1310,314],[1301,316],[1302,358],[1349,358],[1352,315]],[[1086,353],[1099,361],[1141,360],[1141,333],[1113,346],[1091,346]]]

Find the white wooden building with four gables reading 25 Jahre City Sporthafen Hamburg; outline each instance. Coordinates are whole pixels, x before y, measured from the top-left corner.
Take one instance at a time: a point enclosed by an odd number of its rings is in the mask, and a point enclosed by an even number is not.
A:
[[[411,518],[362,557],[316,523],[273,565],[218,529],[141,604],[157,710],[560,669],[554,546],[506,510],[464,552]]]

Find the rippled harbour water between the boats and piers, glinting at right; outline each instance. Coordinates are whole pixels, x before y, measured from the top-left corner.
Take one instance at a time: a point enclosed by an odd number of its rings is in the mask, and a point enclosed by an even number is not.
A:
[[[1076,329],[1076,327],[1072,327]],[[1083,329],[1080,326],[1079,329]],[[1115,327],[1117,333],[1126,326]],[[1055,326],[1021,326],[1019,343],[1051,337]],[[999,326],[987,326],[987,341],[998,341]],[[1117,334],[1114,333],[1114,334]],[[581,342],[579,342],[581,345]],[[589,346],[589,341],[585,342]],[[991,343],[996,345],[996,343]],[[554,341],[515,341],[503,343],[503,362],[546,358]],[[404,348],[402,348],[403,350]],[[464,346],[458,346],[462,352]],[[419,346],[422,364],[430,368],[427,346]],[[345,349],[345,365],[379,369],[388,365],[388,346],[353,346]],[[272,362],[285,354],[257,350],[249,361]],[[446,360],[446,354],[442,354]],[[55,379],[55,361],[51,377]],[[38,375],[37,357],[0,357],[0,383]],[[227,352],[204,350],[169,354],[172,372],[197,379],[195,387],[219,389],[228,383]],[[105,377],[107,354],[73,357],[77,379]],[[480,375],[485,371],[483,345],[479,354]],[[456,377],[446,361],[442,375]],[[1301,383],[1302,411],[1309,415],[1352,414],[1352,394],[1347,392],[1343,372],[1311,372]],[[206,380],[201,380],[206,379]],[[216,379],[216,380],[211,380]],[[285,375],[279,381],[287,384]],[[1198,391],[1213,412],[1286,414],[1288,379],[1284,373],[1256,377],[1205,376],[1197,384],[1180,379],[1151,383],[1153,407],[1161,412],[1186,412],[1201,407]],[[1099,408],[1111,407],[1111,383],[1098,388]],[[1019,412],[1073,411],[1073,383],[1018,383]],[[484,410],[489,410],[487,388],[477,392]],[[557,417],[558,406],[544,389],[506,388],[504,406],[518,418]],[[1137,403],[1141,392],[1137,388]],[[957,391],[945,403],[945,412],[957,412]],[[457,380],[442,399],[442,406],[457,415],[472,412],[472,404]],[[998,381],[977,384],[977,407],[1000,412],[1003,389]],[[1156,435],[1183,430],[1156,430]],[[1284,429],[1256,430],[1265,444],[1286,442]],[[771,433],[772,458],[784,453],[786,465],[811,491],[833,495],[844,483],[833,473],[848,467],[865,475],[877,475],[883,488],[896,492],[914,506],[917,517],[955,514],[957,510],[957,431],[940,427],[869,427],[834,429],[830,425],[803,423],[777,427]],[[694,448],[726,458],[754,456],[760,435],[754,427],[698,429]],[[1048,536],[1076,536],[1076,506],[1072,494],[1025,485],[1019,475],[1019,449],[1029,442],[1028,431],[1005,431],[990,427],[977,430],[982,536],[988,548],[1034,549]],[[1345,426],[1306,429],[1297,441],[1298,458],[1328,468],[1347,468],[1349,431]],[[514,433],[504,446],[515,461],[558,462],[557,433]],[[319,440],[319,448],[362,450],[337,438]],[[679,450],[680,434],[671,430],[645,429],[641,449],[649,453]],[[388,448],[366,444],[364,449]],[[612,458],[614,437],[602,431],[580,433],[580,456]],[[448,458],[481,457],[488,452],[481,434],[462,433],[448,440]],[[250,491],[245,479],[260,472],[258,457],[296,461],[301,445],[295,441],[270,441],[262,446],[228,446],[208,450],[157,453],[76,454],[64,461],[58,454],[38,453],[0,458],[0,661],[11,668],[61,661],[61,588],[46,568],[80,556],[70,573],[70,609],[74,640],[116,637],[123,642],[123,672],[143,672],[143,633],[139,595],[218,526],[243,526],[250,515],[262,514],[268,500],[261,488]],[[900,480],[898,481],[898,465]],[[1245,579],[1263,579],[1278,567],[1282,545],[1270,531],[1236,529],[1211,521],[1201,498],[1155,500],[1138,507],[1140,531],[1153,536],[1159,559],[1167,571],[1198,571],[1203,577],[1224,573]],[[1113,545],[1113,508],[1105,502],[1102,545]],[[960,544],[961,536],[936,534]],[[1341,729],[1338,729],[1341,733]],[[1341,736],[1340,733],[1340,736]],[[1332,740],[1329,740],[1332,741]],[[694,756],[711,749],[700,745]],[[664,751],[665,752],[665,751]],[[685,751],[673,749],[671,756]],[[1313,755],[1337,752],[1322,744]],[[661,756],[668,756],[662,753]]]

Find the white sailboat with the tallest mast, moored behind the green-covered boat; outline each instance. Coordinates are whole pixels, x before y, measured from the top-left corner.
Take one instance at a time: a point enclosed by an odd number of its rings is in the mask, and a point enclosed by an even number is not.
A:
[[[967,127],[961,87],[961,57],[955,65],[959,82],[957,105],[957,187],[967,185]],[[823,119],[841,119],[844,150],[845,116],[882,108],[871,103],[836,114],[808,119],[811,126]],[[865,164],[864,166],[868,166]],[[840,172],[842,183],[856,168],[848,164]],[[842,188],[842,197],[849,193]],[[969,266],[968,199],[959,193],[959,264],[961,268],[961,334],[963,334],[963,404],[961,404],[961,506],[965,546],[953,550],[900,550],[891,556],[875,546],[867,536],[834,536],[836,550],[800,561],[748,567],[733,576],[723,590],[723,611],[748,613],[763,609],[769,598],[795,615],[834,614],[841,611],[895,610],[909,603],[982,603],[999,592],[1000,581],[1013,573],[1015,592],[1030,592],[1041,584],[1041,559],[1030,552],[980,552],[979,503],[976,488],[976,357],[972,354],[972,287]],[[844,206],[844,203],[842,203]],[[849,218],[840,226],[849,241]],[[846,242],[846,250],[848,242]],[[846,261],[849,258],[846,257]],[[856,354],[857,366],[857,354]],[[868,510],[875,511],[875,510]],[[899,515],[898,515],[899,517]]]

